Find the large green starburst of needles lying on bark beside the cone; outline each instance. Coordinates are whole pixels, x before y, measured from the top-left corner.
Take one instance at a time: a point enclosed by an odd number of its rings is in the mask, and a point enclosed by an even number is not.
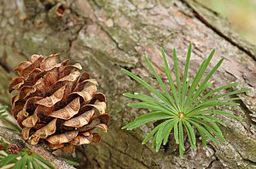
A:
[[[179,155],[182,158],[185,150],[185,133],[188,135],[189,144],[192,149],[197,149],[195,138],[196,130],[201,135],[204,147],[207,146],[207,138],[211,139],[214,144],[219,144],[219,140],[223,143],[225,142],[223,133],[217,123],[223,126],[225,126],[225,124],[212,115],[226,115],[236,118],[237,120],[241,120],[242,118],[224,110],[216,110],[214,107],[217,105],[239,105],[231,101],[240,98],[230,99],[226,97],[237,93],[247,92],[249,89],[246,88],[224,94],[218,94],[219,91],[229,87],[236,87],[237,85],[237,83],[230,83],[223,87],[218,87],[208,93],[204,93],[206,89],[212,85],[212,82],[209,82],[209,80],[216,70],[218,70],[218,67],[223,63],[224,58],[220,59],[207,76],[203,78],[212,57],[215,54],[215,49],[213,49],[209,56],[203,60],[201,66],[196,72],[195,78],[193,78],[192,81],[191,79],[187,80],[189,75],[189,60],[192,53],[192,44],[189,44],[182,79],[178,71],[176,49],[173,48],[172,51],[176,84],[172,79],[171,71],[166,59],[166,53],[164,49],[161,48],[161,54],[165,65],[164,71],[169,81],[170,88],[166,87],[166,84],[161,80],[148,57],[143,55],[143,59],[146,61],[149,70],[154,75],[156,81],[160,84],[162,92],[159,92],[147,82],[143,81],[142,78],[132,74],[130,71],[122,69],[126,75],[131,76],[131,78],[142,84],[143,87],[146,87],[158,98],[154,99],[153,97],[143,93],[124,93],[123,95],[125,97],[142,101],[136,104],[128,104],[128,106],[144,108],[151,111],[148,114],[137,117],[134,121],[122,127],[122,129],[132,130],[151,121],[165,120],[148,133],[148,135],[143,139],[143,144],[146,144],[148,140],[153,137],[152,146],[155,147],[156,151],[159,151],[160,145],[167,143],[169,135],[173,131],[174,139],[176,143],[179,144]]]

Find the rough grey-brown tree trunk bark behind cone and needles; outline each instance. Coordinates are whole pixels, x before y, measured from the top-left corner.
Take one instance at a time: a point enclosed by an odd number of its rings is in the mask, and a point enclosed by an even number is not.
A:
[[[120,68],[125,67],[152,83],[154,79],[142,61],[142,54],[148,54],[163,75],[160,47],[167,54],[177,48],[178,59],[184,65],[189,42],[195,46],[190,75],[195,75],[201,60],[216,48],[211,66],[221,56],[226,59],[212,76],[215,87],[241,82],[241,87],[251,87],[252,92],[240,95],[240,107],[223,108],[244,117],[243,121],[219,117],[227,123],[227,127],[222,127],[227,144],[216,146],[209,142],[207,149],[202,149],[198,140],[197,150],[189,149],[186,144],[181,160],[172,135],[168,145],[158,153],[150,144],[141,145],[154,124],[131,132],[120,129],[145,113],[125,107],[131,100],[122,97],[122,93],[142,89],[124,76]],[[101,84],[108,99],[108,133],[103,134],[100,144],[77,150],[81,168],[84,165],[88,168],[256,168],[255,49],[230,31],[226,20],[199,3],[189,0],[0,1],[1,103],[9,104],[7,86],[14,76],[15,65],[32,54],[55,53],[81,63]]]

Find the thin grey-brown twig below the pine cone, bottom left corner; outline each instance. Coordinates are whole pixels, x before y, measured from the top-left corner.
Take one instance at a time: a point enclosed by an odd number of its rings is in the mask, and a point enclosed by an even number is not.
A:
[[[0,136],[9,141],[10,144],[19,144],[20,147],[25,147],[32,153],[42,156],[44,160],[49,161],[49,163],[55,168],[75,169],[75,167],[69,165],[67,161],[63,161],[55,155],[49,153],[49,151],[47,149],[44,149],[44,147],[42,147],[41,145],[28,144],[23,138],[20,137],[20,135],[5,127],[0,126]]]

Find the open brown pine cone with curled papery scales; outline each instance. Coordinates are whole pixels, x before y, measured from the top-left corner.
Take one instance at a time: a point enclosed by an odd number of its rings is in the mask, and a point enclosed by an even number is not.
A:
[[[72,145],[95,144],[101,136],[92,131],[108,129],[106,98],[96,93],[98,85],[82,66],[57,63],[58,54],[44,57],[34,54],[21,62],[19,75],[9,84],[12,113],[30,144],[46,140],[52,149]]]

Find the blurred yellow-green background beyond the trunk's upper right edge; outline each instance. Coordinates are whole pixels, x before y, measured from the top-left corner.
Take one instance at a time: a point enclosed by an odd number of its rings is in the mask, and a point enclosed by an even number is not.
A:
[[[197,0],[226,17],[232,29],[256,44],[256,0]]]

